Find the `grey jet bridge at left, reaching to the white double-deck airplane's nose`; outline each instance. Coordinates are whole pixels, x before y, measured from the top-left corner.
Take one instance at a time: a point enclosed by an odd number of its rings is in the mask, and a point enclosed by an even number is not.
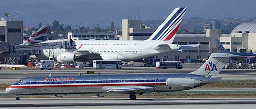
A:
[[[31,55],[40,55],[42,49],[69,48],[72,40],[58,40],[53,42],[9,45],[9,56],[16,58],[20,63],[27,62]]]

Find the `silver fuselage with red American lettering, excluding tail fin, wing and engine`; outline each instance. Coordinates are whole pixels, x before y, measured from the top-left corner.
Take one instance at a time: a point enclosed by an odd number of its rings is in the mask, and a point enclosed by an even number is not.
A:
[[[194,87],[169,87],[167,78],[189,78],[195,80]],[[6,91],[18,95],[32,94],[72,94],[72,93],[107,93],[106,87],[153,87],[149,92],[179,91],[202,86],[212,78],[194,74],[122,74],[122,75],[81,75],[81,76],[37,76],[21,79]],[[211,81],[211,82],[209,82]],[[131,93],[131,92],[117,92]]]

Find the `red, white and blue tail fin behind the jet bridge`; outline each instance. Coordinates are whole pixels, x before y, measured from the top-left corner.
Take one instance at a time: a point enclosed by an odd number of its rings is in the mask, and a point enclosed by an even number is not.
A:
[[[51,25],[43,25],[36,33],[31,35],[31,37],[29,37],[22,44],[34,44],[46,41],[50,28]]]

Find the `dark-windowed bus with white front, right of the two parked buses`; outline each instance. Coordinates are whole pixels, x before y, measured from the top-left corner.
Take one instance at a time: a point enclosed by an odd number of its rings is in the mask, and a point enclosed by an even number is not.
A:
[[[166,62],[156,62],[155,68],[157,69],[167,69],[167,68],[177,68],[183,69],[182,63],[178,61],[166,61]]]

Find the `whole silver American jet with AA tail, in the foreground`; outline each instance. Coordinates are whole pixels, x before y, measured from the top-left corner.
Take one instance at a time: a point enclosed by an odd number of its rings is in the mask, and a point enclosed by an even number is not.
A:
[[[122,93],[170,92],[196,88],[205,84],[220,82],[217,77],[230,53],[212,53],[209,60],[197,71],[176,74],[108,74],[77,76],[34,76],[25,77],[6,88],[7,93],[20,95],[78,94],[78,93]]]

